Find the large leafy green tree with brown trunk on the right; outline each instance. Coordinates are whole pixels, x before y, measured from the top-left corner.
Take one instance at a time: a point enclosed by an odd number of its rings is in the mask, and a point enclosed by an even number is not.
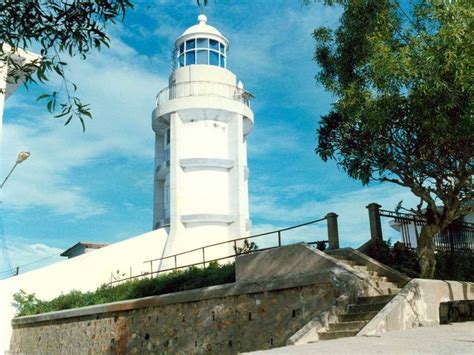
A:
[[[363,184],[408,187],[427,223],[418,240],[432,278],[432,239],[474,212],[474,2],[326,0],[335,30],[314,31],[317,80],[337,97],[317,154]]]

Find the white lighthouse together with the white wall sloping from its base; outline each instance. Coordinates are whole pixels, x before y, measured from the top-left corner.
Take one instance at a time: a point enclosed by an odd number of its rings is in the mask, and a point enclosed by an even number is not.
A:
[[[45,300],[71,290],[92,291],[110,281],[112,274],[127,277],[149,272],[145,260],[249,234],[250,94],[226,68],[228,40],[206,21],[201,15],[199,24],[176,41],[178,68],[170,76],[170,86],[158,95],[153,111],[155,230],[0,280],[0,353],[9,349],[15,313],[11,302],[19,290]],[[196,48],[191,48],[192,41]],[[210,250],[206,260],[223,253],[232,254],[232,245]],[[191,254],[178,263],[201,260],[201,253]]]

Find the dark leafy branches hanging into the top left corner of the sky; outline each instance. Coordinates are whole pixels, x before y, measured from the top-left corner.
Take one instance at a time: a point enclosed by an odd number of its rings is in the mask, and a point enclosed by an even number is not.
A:
[[[133,5],[129,0],[22,0],[0,2],[0,69],[8,65],[11,81],[24,79],[24,84],[60,79],[59,87],[38,97],[46,100],[55,117],[63,117],[65,124],[73,117],[92,118],[89,105],[75,95],[77,86],[67,79],[64,57],[86,59],[94,50],[109,46],[106,26],[124,19]],[[40,60],[19,63],[14,60],[19,49],[39,50]],[[39,48],[39,49],[37,49]],[[32,73],[34,74],[32,75]]]

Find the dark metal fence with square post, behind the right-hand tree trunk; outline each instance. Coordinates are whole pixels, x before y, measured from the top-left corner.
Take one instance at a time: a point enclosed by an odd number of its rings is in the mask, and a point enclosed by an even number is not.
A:
[[[426,219],[419,215],[383,210],[380,207],[382,206],[376,203],[367,206],[371,238],[383,240],[381,217],[386,217],[391,219],[391,227],[400,232],[401,242],[408,248],[416,248]],[[433,246],[439,251],[474,251],[474,224],[453,222],[433,237]]]

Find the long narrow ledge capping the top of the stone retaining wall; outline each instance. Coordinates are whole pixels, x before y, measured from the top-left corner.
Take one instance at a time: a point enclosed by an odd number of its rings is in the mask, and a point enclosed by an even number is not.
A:
[[[291,277],[272,279],[269,281],[232,283],[210,286],[195,290],[150,296],[134,300],[106,303],[89,307],[74,308],[64,311],[49,312],[12,319],[12,326],[50,322],[74,317],[98,315],[109,312],[121,312],[140,308],[164,306],[175,303],[195,302],[213,298],[223,298],[242,294],[275,291],[308,285],[333,285],[335,275],[332,272],[316,272]]]

